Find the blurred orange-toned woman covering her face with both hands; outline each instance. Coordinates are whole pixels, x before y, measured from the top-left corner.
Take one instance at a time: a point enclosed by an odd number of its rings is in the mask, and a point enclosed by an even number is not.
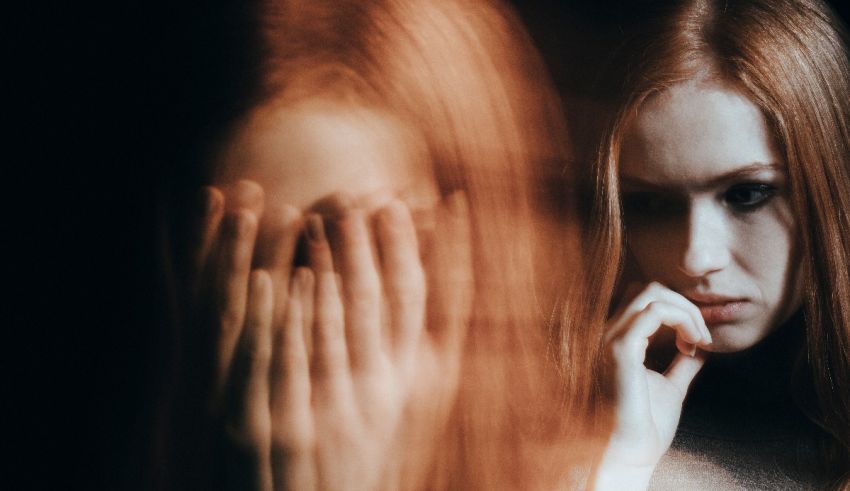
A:
[[[218,483],[563,479],[574,456],[556,437],[580,425],[529,326],[533,171],[563,165],[564,131],[521,28],[465,1],[270,1],[259,17],[259,102],[216,152],[194,253],[201,332],[184,335],[214,353],[199,432],[225,430]],[[201,457],[190,483],[215,455]]]

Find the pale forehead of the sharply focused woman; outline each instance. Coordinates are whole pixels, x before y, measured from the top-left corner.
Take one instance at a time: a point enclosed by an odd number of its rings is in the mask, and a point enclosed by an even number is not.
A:
[[[764,115],[745,95],[719,82],[686,82],[637,108],[623,133],[620,173],[686,186],[777,157]]]

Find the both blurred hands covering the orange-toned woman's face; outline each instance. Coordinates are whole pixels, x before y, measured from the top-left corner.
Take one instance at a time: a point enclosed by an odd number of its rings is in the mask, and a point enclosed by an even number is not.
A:
[[[471,310],[465,201],[437,211],[426,292],[401,202],[371,221],[356,207],[305,220],[291,207],[263,210],[253,183],[237,191],[210,189],[233,206],[211,207],[227,211],[208,214],[198,248],[208,283],[200,303],[217,306],[210,404],[226,487],[421,487],[454,402]],[[303,231],[309,267],[293,274]],[[252,271],[255,249],[263,269]]]

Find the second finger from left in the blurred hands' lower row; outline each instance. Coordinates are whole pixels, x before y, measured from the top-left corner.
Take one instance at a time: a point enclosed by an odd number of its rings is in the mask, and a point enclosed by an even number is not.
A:
[[[313,277],[299,268],[292,278],[288,305],[278,333],[273,371],[272,421],[275,482],[284,489],[310,489],[314,423],[310,407],[310,366],[304,345],[304,291],[312,295]]]

